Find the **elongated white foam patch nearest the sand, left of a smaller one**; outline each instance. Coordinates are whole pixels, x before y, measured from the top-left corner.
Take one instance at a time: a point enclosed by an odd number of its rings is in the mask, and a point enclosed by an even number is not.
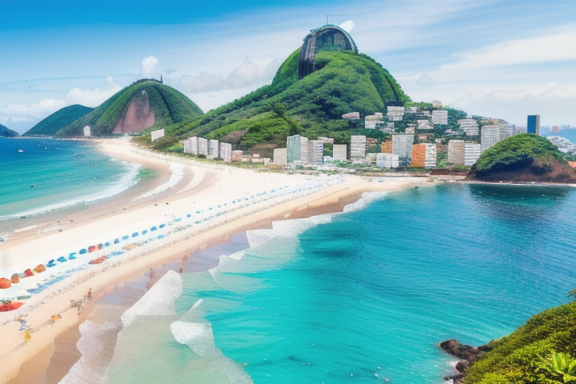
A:
[[[127,327],[138,316],[176,314],[174,302],[182,294],[182,289],[182,277],[169,270],[136,304],[124,312],[122,323]]]

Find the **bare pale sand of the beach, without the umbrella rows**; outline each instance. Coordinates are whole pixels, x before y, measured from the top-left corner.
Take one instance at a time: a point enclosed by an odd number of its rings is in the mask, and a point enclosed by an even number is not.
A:
[[[47,261],[47,255],[59,255],[63,250],[79,249],[90,244],[110,240],[124,234],[149,228],[162,220],[170,220],[197,209],[208,209],[218,204],[231,202],[238,197],[250,197],[272,189],[310,186],[323,180],[324,185],[316,189],[275,196],[269,193],[256,199],[249,206],[226,212],[205,223],[193,225],[162,240],[142,245],[122,256],[75,272],[71,277],[54,284],[47,290],[34,295],[17,311],[0,314],[0,382],[5,383],[19,374],[26,361],[34,359],[40,367],[47,367],[54,349],[54,340],[66,330],[78,327],[83,316],[76,308],[70,308],[70,300],[81,299],[92,289],[94,297],[101,297],[114,288],[115,284],[148,268],[181,258],[197,249],[229,239],[233,234],[247,229],[262,228],[272,220],[299,218],[327,211],[339,211],[357,200],[363,192],[397,191],[412,185],[431,184],[427,178],[382,178],[383,182],[361,177],[307,177],[277,173],[259,173],[222,165],[198,163],[192,160],[169,157],[136,148],[127,140],[100,140],[101,149],[111,156],[142,164],[154,169],[159,177],[124,193],[122,198],[100,204],[97,207],[63,217],[58,221],[61,232],[43,231],[55,225],[44,223],[34,228],[9,234],[9,241],[0,245],[2,277],[4,271],[18,268],[26,261],[32,268],[37,261]],[[139,197],[158,188],[170,179],[170,163],[184,164],[183,176],[170,189],[146,198]],[[270,198],[275,196],[273,198]],[[232,206],[228,206],[230,208]],[[14,228],[18,230],[19,228]],[[64,253],[67,254],[67,253]],[[96,255],[96,253],[95,253]],[[38,275],[41,276],[41,275]],[[90,309],[87,305],[87,310]],[[27,343],[20,324],[11,321],[20,314],[27,314],[27,324],[37,328]],[[54,314],[62,319],[50,324]]]

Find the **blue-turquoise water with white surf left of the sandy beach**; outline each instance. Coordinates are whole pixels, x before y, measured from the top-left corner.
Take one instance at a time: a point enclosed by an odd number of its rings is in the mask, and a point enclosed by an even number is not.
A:
[[[113,196],[136,174],[87,142],[0,138],[0,222]]]

